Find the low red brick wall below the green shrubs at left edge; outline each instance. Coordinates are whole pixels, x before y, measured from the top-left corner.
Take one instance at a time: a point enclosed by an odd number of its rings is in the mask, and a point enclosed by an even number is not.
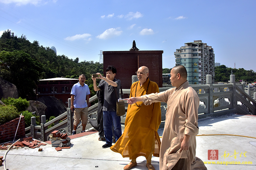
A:
[[[25,137],[25,119],[24,116],[21,116],[21,119],[18,117],[0,126],[0,143],[13,141],[19,120],[20,124],[16,134],[16,139]]]

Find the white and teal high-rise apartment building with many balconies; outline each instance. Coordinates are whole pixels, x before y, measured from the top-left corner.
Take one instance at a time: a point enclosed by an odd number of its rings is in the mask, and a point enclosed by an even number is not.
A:
[[[206,75],[212,75],[214,83],[214,53],[212,46],[201,40],[185,43],[174,52],[176,66],[183,65],[188,72],[189,84],[206,84]]]

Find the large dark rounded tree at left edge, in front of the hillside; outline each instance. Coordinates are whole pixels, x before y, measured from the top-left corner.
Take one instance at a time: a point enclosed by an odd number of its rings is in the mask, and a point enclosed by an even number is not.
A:
[[[0,76],[16,85],[22,98],[35,95],[36,82],[40,78],[42,65],[23,51],[0,52]]]

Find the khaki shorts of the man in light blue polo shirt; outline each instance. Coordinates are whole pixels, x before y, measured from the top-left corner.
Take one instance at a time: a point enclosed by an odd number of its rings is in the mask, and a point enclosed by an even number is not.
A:
[[[87,124],[88,120],[88,107],[85,108],[75,108],[74,110],[74,125],[77,126],[80,122],[80,117],[82,124]]]

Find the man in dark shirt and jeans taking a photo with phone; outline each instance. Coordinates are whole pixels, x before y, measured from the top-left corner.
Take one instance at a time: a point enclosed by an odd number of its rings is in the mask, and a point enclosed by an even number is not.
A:
[[[104,104],[103,104],[103,129],[106,138],[106,144],[102,148],[108,148],[112,146],[112,124],[114,125],[115,140],[117,141],[122,135],[121,129],[121,117],[116,115],[116,101],[119,98],[119,90],[121,87],[121,81],[116,79],[116,68],[108,66],[106,69],[106,77],[103,77],[100,73],[97,73],[99,77],[97,79],[105,80],[99,86],[96,84],[96,78],[93,78],[93,89],[95,91],[104,92]]]

